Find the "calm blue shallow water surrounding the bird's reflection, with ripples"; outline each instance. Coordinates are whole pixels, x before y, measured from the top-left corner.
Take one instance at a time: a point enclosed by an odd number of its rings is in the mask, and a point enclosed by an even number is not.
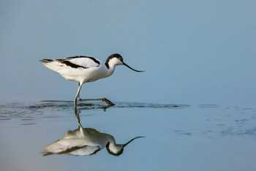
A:
[[[80,102],[83,127],[125,143],[120,156],[42,156],[45,146],[75,130],[73,103],[46,100],[0,106],[1,170],[256,170],[256,108]]]

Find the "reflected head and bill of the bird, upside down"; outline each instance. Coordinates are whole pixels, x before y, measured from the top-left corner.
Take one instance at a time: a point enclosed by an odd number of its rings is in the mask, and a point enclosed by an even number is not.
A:
[[[109,141],[106,145],[107,151],[109,154],[112,154],[114,156],[120,156],[124,152],[124,147],[137,138],[144,138],[144,137],[139,136],[139,137],[132,138],[132,140],[129,140],[127,143],[124,143],[124,144],[116,144],[114,142]]]

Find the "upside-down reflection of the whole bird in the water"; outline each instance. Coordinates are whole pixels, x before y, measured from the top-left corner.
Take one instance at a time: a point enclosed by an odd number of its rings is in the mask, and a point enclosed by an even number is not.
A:
[[[51,154],[70,154],[70,155],[93,155],[97,154],[102,148],[106,148],[109,154],[119,156],[123,153],[124,147],[137,138],[132,138],[127,143],[116,143],[113,135],[99,132],[94,128],[83,128],[80,124],[80,111],[75,106],[75,118],[77,119],[78,129],[69,130],[59,140],[51,143],[42,151],[44,156]]]

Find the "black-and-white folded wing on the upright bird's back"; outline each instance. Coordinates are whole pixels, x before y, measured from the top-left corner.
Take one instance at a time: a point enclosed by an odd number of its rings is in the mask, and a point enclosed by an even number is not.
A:
[[[67,57],[65,59],[56,59],[61,63],[71,66],[72,68],[92,68],[99,67],[100,62],[94,57],[75,56]]]

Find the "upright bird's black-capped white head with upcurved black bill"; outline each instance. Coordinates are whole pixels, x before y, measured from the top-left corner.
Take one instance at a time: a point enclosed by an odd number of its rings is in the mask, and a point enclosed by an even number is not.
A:
[[[116,66],[116,65],[125,65],[127,66],[127,68],[130,68],[131,70],[133,71],[136,71],[136,72],[144,72],[144,71],[138,71],[138,70],[135,70],[134,68],[130,67],[129,65],[127,65],[127,63],[124,63],[124,59],[123,57],[118,54],[118,53],[115,53],[115,54],[112,54],[108,57],[108,59],[106,60],[106,66],[109,68],[110,66]]]

